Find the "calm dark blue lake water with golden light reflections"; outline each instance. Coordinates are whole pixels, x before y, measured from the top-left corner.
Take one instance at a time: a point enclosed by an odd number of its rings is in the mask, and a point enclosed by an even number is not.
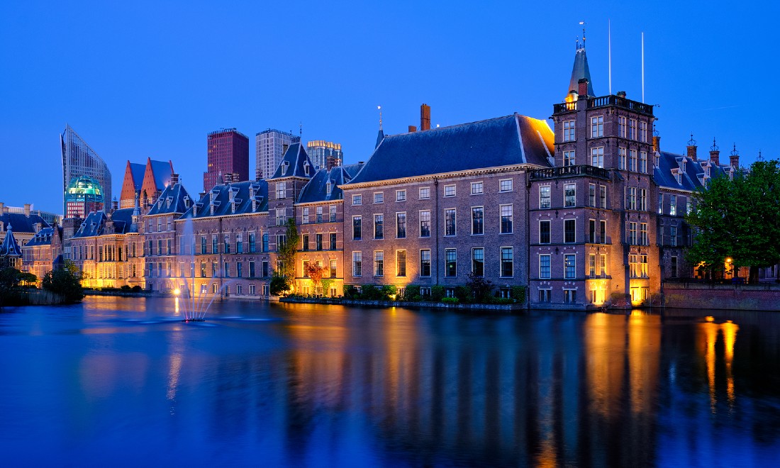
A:
[[[778,313],[178,313],[0,312],[2,465],[780,463]]]

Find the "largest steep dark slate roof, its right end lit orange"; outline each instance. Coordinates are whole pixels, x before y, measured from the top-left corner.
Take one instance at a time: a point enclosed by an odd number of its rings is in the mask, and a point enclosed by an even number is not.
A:
[[[547,122],[518,114],[390,135],[350,183],[519,164],[551,167],[553,138]]]

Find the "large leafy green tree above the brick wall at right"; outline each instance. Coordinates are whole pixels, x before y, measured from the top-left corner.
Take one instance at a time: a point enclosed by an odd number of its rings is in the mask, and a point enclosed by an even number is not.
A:
[[[735,267],[758,268],[780,261],[780,161],[756,161],[732,179],[711,179],[693,193],[696,208],[686,216],[695,235],[688,259],[722,271],[726,258]]]

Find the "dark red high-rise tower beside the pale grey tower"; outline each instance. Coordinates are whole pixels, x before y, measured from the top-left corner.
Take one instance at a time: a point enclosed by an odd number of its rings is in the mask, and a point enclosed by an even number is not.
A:
[[[203,173],[203,191],[219,182],[222,174],[238,174],[249,180],[249,138],[236,129],[220,129],[208,134],[207,170]]]

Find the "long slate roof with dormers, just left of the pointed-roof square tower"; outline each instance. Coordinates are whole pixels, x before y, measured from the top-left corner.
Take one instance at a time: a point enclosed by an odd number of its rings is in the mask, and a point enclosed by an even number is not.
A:
[[[236,209],[233,211],[230,203],[230,193],[236,200]],[[252,210],[252,199],[255,207]],[[213,201],[212,201],[213,200]],[[211,204],[214,204],[214,214],[211,214]],[[248,215],[268,211],[268,183],[265,180],[248,180],[231,184],[217,185],[209,190],[181,217],[185,218],[209,218],[225,215]]]

